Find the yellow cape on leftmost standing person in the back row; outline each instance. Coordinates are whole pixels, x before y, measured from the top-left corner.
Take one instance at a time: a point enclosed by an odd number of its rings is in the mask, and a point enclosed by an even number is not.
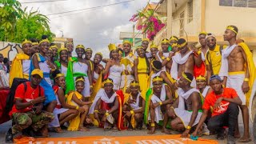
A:
[[[10,78],[9,82],[10,85],[12,85],[14,78],[27,78],[29,79],[28,75],[23,74],[23,69],[22,69],[22,60],[28,60],[30,59],[30,56],[20,53],[17,54],[16,57],[14,58],[12,64],[11,64],[11,69],[10,69]]]

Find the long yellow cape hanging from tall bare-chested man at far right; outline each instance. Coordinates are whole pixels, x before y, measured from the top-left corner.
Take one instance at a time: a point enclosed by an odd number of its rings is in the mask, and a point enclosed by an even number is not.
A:
[[[249,47],[246,45],[246,43],[241,42],[238,44],[238,46],[242,47],[242,50],[245,51],[246,53],[246,58],[247,58],[247,65],[244,66],[245,67],[245,71],[247,66],[249,66],[249,74],[250,74],[250,78],[249,78],[249,86],[250,86],[250,90],[246,93],[246,105],[249,106],[249,101],[250,101],[250,94],[252,92],[252,87],[254,85],[254,78],[255,78],[255,65],[254,65],[254,59],[253,59],[253,54],[251,54]]]

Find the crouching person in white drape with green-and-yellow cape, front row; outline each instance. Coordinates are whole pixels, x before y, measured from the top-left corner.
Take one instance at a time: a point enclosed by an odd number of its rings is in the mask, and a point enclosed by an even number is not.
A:
[[[148,134],[155,133],[155,122],[159,123],[163,120],[162,132],[170,134],[170,131],[166,129],[167,122],[170,118],[169,110],[170,104],[173,102],[170,87],[162,83],[161,77],[154,77],[153,93],[150,96],[146,96],[146,108],[145,118],[150,121],[150,131]],[[149,113],[147,112],[149,110]],[[149,114],[149,116],[147,116]],[[147,123],[147,122],[146,122]]]

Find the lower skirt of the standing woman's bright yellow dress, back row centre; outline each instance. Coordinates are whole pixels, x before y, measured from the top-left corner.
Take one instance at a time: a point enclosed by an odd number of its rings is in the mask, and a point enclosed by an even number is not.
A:
[[[140,86],[140,89],[142,90],[142,98],[146,99],[146,90],[148,90],[148,74],[138,74],[138,84]]]

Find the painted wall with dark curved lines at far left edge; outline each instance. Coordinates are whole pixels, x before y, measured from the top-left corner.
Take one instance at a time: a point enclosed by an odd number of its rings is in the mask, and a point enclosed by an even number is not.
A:
[[[22,52],[22,48],[19,43],[13,42],[0,42],[0,54],[3,54],[4,58],[9,58],[12,61],[15,55]]]

